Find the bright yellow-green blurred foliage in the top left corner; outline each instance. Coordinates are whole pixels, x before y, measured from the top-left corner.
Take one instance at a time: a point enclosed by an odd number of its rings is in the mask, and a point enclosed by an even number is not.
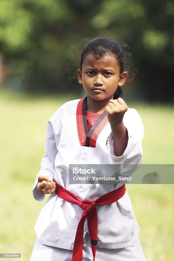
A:
[[[0,7],[0,39],[11,51],[27,51],[34,47],[32,34],[35,30],[39,33],[44,24],[48,23],[49,28],[55,21],[70,19],[65,1],[1,0]]]

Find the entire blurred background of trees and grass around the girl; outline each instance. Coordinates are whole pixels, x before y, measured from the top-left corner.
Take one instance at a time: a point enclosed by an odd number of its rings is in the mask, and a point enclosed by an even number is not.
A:
[[[124,39],[137,68],[123,99],[145,126],[143,163],[174,163],[173,1],[1,0],[0,253],[30,259],[45,203],[34,200],[32,187],[46,123],[64,102],[85,95],[77,81],[67,82],[69,49],[103,31]],[[149,261],[174,260],[173,188],[127,185]]]

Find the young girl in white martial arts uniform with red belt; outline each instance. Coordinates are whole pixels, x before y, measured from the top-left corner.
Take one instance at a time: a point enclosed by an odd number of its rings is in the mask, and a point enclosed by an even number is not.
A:
[[[69,184],[69,164],[114,164],[131,175],[142,162],[141,118],[120,95],[125,68],[113,39],[99,37],[82,49],[77,75],[87,97],[65,103],[47,123],[33,195],[51,195],[35,224],[31,261],[146,260],[125,185]]]

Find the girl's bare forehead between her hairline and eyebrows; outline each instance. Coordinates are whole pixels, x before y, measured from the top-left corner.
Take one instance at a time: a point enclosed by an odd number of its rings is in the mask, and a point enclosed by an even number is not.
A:
[[[94,55],[88,54],[83,60],[83,66],[117,67],[118,61],[114,55],[106,54],[98,59]]]

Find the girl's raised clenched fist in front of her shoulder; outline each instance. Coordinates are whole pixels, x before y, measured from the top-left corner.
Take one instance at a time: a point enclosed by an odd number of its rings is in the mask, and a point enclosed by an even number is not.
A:
[[[110,100],[110,103],[106,106],[106,112],[111,126],[116,126],[123,121],[123,116],[127,109],[128,106],[122,98]]]

